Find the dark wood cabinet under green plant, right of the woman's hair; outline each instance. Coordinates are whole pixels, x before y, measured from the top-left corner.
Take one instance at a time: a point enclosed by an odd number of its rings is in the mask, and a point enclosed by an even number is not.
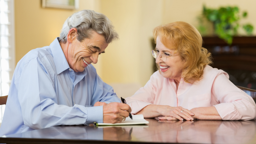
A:
[[[212,67],[228,72],[235,85],[256,89],[256,36],[234,37],[230,46],[218,37],[203,37],[202,46],[212,53]]]

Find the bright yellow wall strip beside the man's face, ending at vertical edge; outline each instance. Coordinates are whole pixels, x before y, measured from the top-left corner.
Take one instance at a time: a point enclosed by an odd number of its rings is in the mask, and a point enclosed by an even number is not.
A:
[[[115,26],[119,40],[102,54],[102,79],[112,82],[139,82],[139,1],[102,0],[101,12]]]

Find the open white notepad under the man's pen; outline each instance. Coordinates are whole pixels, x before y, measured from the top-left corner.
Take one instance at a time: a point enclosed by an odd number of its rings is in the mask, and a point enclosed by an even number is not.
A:
[[[133,120],[130,117],[127,117],[125,121],[116,124],[109,124],[109,123],[97,123],[97,125],[140,125],[140,124],[148,124],[149,122],[146,121],[143,115],[133,115]]]

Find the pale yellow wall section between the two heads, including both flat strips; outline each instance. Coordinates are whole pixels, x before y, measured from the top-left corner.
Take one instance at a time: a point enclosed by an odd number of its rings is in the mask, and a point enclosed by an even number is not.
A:
[[[152,75],[152,30],[161,24],[161,1],[102,0],[101,12],[109,17],[120,39],[102,55],[102,78],[109,83],[140,83]]]

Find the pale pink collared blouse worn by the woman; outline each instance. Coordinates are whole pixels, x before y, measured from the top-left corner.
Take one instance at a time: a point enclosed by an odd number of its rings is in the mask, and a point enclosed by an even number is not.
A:
[[[256,119],[256,105],[251,96],[229,81],[226,72],[208,65],[202,80],[190,84],[181,78],[178,89],[174,79],[165,78],[156,71],[144,87],[125,99],[133,114],[150,104],[181,106],[189,110],[214,106],[223,120]]]

